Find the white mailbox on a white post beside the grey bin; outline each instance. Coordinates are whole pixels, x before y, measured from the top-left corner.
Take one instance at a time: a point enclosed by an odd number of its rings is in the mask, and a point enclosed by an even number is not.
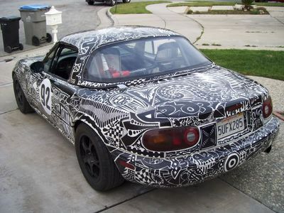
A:
[[[53,28],[53,43],[58,41],[58,24],[62,23],[62,12],[55,9],[54,6],[51,7],[50,11],[45,13],[46,25]]]

